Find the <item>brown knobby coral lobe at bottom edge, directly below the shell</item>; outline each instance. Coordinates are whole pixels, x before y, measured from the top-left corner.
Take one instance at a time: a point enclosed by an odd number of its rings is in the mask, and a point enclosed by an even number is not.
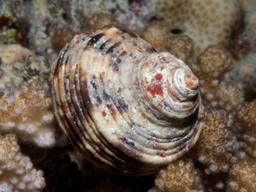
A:
[[[156,174],[155,187],[149,192],[202,192],[200,174],[191,159],[170,163]]]

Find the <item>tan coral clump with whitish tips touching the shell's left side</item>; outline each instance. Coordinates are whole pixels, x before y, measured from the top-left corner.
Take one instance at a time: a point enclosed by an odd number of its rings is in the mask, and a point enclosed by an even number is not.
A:
[[[56,145],[61,132],[42,82],[22,83],[16,89],[5,89],[1,93],[1,133],[17,134],[23,141],[38,146]]]

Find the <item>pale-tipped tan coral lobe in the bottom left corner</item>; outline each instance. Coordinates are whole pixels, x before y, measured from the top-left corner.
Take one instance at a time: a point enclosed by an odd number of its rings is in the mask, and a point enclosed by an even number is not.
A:
[[[41,191],[46,186],[42,170],[21,154],[14,134],[0,135],[0,190]]]

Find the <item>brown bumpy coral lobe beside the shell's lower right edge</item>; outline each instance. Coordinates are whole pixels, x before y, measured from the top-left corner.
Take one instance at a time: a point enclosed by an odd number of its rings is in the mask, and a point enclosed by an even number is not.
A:
[[[191,157],[203,165],[206,174],[227,172],[238,161],[239,149],[237,138],[231,129],[234,117],[224,110],[206,110],[202,134],[191,150]]]

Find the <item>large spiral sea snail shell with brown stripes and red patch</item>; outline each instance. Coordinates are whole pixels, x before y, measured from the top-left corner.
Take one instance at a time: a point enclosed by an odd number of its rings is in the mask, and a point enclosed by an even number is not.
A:
[[[75,35],[50,84],[66,136],[113,173],[152,174],[190,150],[202,129],[198,78],[126,30]]]

